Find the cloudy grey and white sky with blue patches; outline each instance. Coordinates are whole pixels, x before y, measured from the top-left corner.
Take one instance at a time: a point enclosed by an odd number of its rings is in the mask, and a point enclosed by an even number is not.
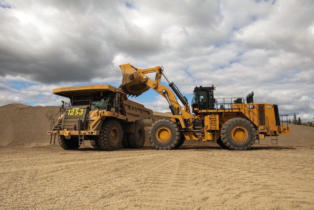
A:
[[[254,102],[310,120],[313,11],[312,0],[0,0],[0,105],[59,105],[52,89],[62,86],[117,87],[119,65],[131,63],[162,65],[189,100],[214,83],[216,98],[254,91]],[[169,111],[153,91],[136,100]]]

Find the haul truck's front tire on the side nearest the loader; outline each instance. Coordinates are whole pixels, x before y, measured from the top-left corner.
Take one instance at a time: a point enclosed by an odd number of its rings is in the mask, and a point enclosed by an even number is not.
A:
[[[97,143],[102,150],[118,150],[123,137],[122,126],[116,119],[104,120]]]

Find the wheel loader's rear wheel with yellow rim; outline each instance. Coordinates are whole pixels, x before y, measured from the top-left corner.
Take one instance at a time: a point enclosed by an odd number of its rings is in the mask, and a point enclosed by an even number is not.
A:
[[[256,130],[250,121],[233,118],[222,126],[221,139],[230,150],[247,150],[255,142]]]

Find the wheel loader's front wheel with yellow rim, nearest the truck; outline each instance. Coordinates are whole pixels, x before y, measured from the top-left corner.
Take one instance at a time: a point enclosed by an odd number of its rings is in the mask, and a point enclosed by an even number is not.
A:
[[[149,130],[149,141],[157,150],[175,149],[180,137],[179,127],[171,120],[158,120]]]

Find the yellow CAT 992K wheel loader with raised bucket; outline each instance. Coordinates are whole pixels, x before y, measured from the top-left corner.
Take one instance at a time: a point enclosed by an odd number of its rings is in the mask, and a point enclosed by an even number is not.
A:
[[[149,131],[149,141],[156,149],[176,149],[189,139],[215,141],[231,150],[247,150],[265,136],[270,136],[272,143],[277,144],[278,135],[290,133],[287,115],[279,115],[277,105],[254,103],[253,92],[246,99],[214,98],[214,85],[195,87],[191,112],[187,98],[169,82],[162,67],[137,69],[130,64],[120,67],[123,77],[119,88],[124,93],[138,96],[152,88],[169,103],[171,119],[155,122]],[[154,81],[146,75],[148,73],[156,73]],[[162,76],[171,89],[160,84]]]

